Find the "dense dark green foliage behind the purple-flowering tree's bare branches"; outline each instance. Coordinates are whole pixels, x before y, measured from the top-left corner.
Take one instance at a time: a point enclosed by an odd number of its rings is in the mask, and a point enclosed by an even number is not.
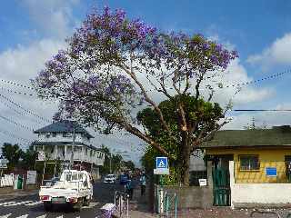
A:
[[[176,96],[173,100],[161,102],[158,106],[163,114],[166,124],[170,126],[172,133],[177,140],[174,141],[168,134],[164,132],[163,126],[159,120],[156,111],[151,108],[146,108],[137,114],[137,120],[144,126],[148,134],[166,150],[168,154],[175,157],[175,160],[170,160],[170,175],[164,176],[165,184],[179,183],[180,176],[183,171],[180,163],[183,159],[183,148],[181,146],[182,135],[179,130],[179,114],[178,104],[182,104],[186,114],[186,124],[193,128],[192,136],[197,138],[199,134],[202,137],[209,134],[217,126],[217,121],[223,117],[223,110],[217,103],[206,102],[204,99],[197,99],[188,94]],[[204,128],[204,129],[203,129]],[[201,133],[201,131],[203,131]],[[152,146],[148,146],[146,154],[142,157],[141,163],[147,172],[152,172],[156,167],[156,156],[160,154]]]

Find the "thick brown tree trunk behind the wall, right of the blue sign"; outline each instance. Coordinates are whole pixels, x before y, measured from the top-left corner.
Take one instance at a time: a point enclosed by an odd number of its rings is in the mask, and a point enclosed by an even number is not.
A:
[[[183,185],[189,186],[190,179],[190,140],[188,137],[188,133],[182,132],[182,151],[181,151],[181,183]]]

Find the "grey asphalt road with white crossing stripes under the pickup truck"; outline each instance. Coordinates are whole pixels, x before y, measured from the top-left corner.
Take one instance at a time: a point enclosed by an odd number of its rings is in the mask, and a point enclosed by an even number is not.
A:
[[[38,195],[0,199],[0,218],[91,218],[101,217],[100,208],[105,203],[114,203],[115,191],[123,191],[124,186],[109,183],[95,183],[94,201],[83,207],[81,212],[72,211],[64,205],[56,205],[53,212],[45,212]]]

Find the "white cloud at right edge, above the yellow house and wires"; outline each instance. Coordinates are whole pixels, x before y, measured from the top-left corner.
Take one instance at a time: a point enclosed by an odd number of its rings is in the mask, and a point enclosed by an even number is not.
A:
[[[247,62],[250,64],[262,64],[264,68],[273,64],[291,64],[291,33],[277,38],[261,54],[250,55],[247,58]]]

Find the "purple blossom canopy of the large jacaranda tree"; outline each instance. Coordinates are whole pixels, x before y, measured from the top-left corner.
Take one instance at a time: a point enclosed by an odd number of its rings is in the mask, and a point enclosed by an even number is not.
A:
[[[186,76],[195,79],[198,73],[224,70],[238,57],[236,51],[228,51],[203,35],[162,33],[109,7],[103,13],[87,15],[67,43],[67,50],[60,50],[45,63],[35,84],[52,95],[65,93],[70,100],[63,100],[62,108],[68,116],[89,114],[93,120],[116,113],[115,104],[130,114],[130,107],[139,100],[143,103],[134,81],[120,73],[124,66],[131,69],[128,63],[133,63],[135,74],[150,74],[162,81],[166,77],[160,72],[166,67],[177,72],[176,81],[183,81]],[[92,101],[92,96],[96,100]]]

